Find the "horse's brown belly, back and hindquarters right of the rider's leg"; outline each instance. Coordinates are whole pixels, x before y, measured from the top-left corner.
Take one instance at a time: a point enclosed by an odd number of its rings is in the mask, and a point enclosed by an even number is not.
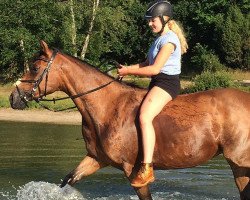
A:
[[[243,138],[248,138],[246,151],[250,148],[249,102],[249,93],[235,89],[180,95],[170,102],[154,120],[159,167],[192,167],[222,151],[231,154],[230,149],[242,145],[238,140]]]

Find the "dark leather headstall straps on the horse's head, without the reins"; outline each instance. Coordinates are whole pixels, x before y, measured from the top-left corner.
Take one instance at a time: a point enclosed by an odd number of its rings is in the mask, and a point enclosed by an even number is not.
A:
[[[58,53],[58,50],[55,49],[52,53],[52,56],[49,60],[46,60],[46,59],[43,59],[43,58],[39,58],[37,60],[43,60],[44,62],[47,62],[47,66],[46,68],[43,70],[42,74],[40,75],[40,77],[37,79],[37,80],[20,80],[20,82],[23,82],[23,83],[34,83],[34,86],[33,88],[31,89],[31,91],[28,93],[32,98],[34,97],[34,93],[36,92],[37,88],[39,89],[39,85],[40,83],[42,82],[42,80],[44,79],[44,77],[46,76],[46,82],[45,82],[45,89],[44,89],[44,94],[43,95],[40,95],[38,97],[38,99],[36,99],[36,101],[39,101],[40,99],[42,99],[42,97],[46,96],[46,91],[47,91],[47,82],[48,82],[48,75],[49,75],[49,71],[50,71],[50,68],[51,68],[51,65],[56,57],[56,54]],[[25,103],[25,105],[27,106],[27,102],[29,101],[28,100],[28,97],[26,94],[21,94],[20,92],[20,89],[18,88],[18,86],[16,85],[16,89],[17,89],[17,92],[19,94],[19,97],[21,98],[21,100]],[[39,89],[40,90],[40,89]],[[40,92],[39,92],[40,93]]]

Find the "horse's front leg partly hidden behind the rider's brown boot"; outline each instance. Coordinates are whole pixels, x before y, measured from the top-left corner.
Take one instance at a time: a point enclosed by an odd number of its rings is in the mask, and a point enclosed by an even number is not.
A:
[[[136,174],[134,173],[133,167],[134,166],[130,165],[129,163],[126,163],[126,162],[123,163],[123,171],[130,182],[132,180],[132,177],[134,177]],[[151,196],[148,185],[144,187],[140,187],[140,188],[136,188],[136,187],[133,187],[133,188],[140,200],[152,200],[152,196]]]

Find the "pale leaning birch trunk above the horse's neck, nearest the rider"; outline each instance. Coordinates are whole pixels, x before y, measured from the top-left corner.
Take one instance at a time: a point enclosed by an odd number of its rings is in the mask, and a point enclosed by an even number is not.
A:
[[[83,48],[82,48],[82,52],[81,52],[81,59],[82,60],[84,60],[87,49],[88,49],[89,39],[90,39],[90,35],[91,35],[93,27],[94,27],[94,21],[95,21],[95,17],[96,17],[97,8],[99,6],[99,2],[100,2],[100,0],[93,0],[92,19],[91,19],[89,31],[88,31],[88,34],[85,38],[85,42],[83,44]]]

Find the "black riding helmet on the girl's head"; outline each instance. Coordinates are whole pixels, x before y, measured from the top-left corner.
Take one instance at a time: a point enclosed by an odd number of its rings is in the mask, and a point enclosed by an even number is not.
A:
[[[173,17],[172,5],[168,1],[156,0],[149,4],[145,19],[168,16]]]

